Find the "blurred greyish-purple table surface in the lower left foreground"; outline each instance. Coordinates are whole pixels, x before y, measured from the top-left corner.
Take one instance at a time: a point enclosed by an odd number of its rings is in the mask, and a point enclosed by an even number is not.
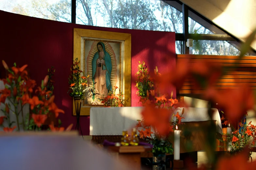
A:
[[[1,170],[128,169],[77,133],[0,134]]]

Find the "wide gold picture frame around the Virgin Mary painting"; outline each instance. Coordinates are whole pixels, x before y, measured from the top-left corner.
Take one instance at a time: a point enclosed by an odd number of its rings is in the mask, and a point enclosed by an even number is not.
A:
[[[83,60],[82,56],[84,55],[84,49],[82,45],[83,45],[84,38],[86,38],[87,40],[98,39],[102,41],[111,40],[113,42],[122,41],[123,43],[122,89],[125,94],[124,99],[129,101],[126,106],[131,106],[131,34],[74,28],[74,56],[73,56],[74,60],[76,58],[78,58],[78,61]],[[120,45],[120,48],[121,48],[121,45]],[[120,53],[121,53],[121,49],[120,49]],[[79,67],[83,71],[85,67],[84,63],[85,62],[80,62],[79,64]],[[120,68],[121,68],[121,64],[120,64]],[[120,76],[121,76],[121,69],[120,69]],[[120,81],[120,84],[121,84],[121,81]],[[74,100],[72,100],[72,102],[73,102],[73,115],[76,115]],[[93,105],[85,106],[82,104],[80,115],[90,116],[91,107],[93,107]]]

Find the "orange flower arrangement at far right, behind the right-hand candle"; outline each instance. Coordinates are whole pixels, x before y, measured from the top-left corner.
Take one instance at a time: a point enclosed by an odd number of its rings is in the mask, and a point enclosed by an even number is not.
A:
[[[223,115],[221,120],[224,120],[222,124],[229,124],[230,126],[231,122],[225,118],[223,111],[222,113]],[[245,116],[246,115],[247,113],[245,114]],[[230,154],[237,154],[244,150],[246,147],[251,148],[252,146],[254,146],[254,140],[256,137],[256,126],[251,124],[251,121],[247,124],[244,117],[242,117],[242,119],[238,121],[235,126],[231,125],[231,133],[222,134],[227,136],[227,141],[224,141],[222,138],[219,139],[221,142],[227,142],[228,145],[230,144]]]

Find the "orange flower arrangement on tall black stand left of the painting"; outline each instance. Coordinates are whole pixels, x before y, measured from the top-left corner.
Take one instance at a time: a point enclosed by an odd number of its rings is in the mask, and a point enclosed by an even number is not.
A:
[[[69,94],[70,96],[75,96],[75,95],[80,95],[81,99],[84,99],[84,92],[92,90],[92,87],[87,83],[87,78],[90,75],[85,75],[82,70],[79,68],[80,61],[73,60],[72,68],[70,70],[72,71],[71,75],[69,76],[69,84],[70,84],[70,89],[71,93]],[[82,73],[82,76],[81,76]],[[69,92],[68,91],[68,92]]]

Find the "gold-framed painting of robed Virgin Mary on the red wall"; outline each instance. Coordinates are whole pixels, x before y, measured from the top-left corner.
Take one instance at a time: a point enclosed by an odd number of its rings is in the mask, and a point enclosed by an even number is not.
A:
[[[118,87],[116,93],[131,98],[131,35],[74,28],[74,59],[89,75],[94,92],[85,92],[80,115],[90,115],[91,107],[102,107],[101,99]],[[128,105],[130,106],[130,102]],[[73,115],[75,115],[73,101]]]

